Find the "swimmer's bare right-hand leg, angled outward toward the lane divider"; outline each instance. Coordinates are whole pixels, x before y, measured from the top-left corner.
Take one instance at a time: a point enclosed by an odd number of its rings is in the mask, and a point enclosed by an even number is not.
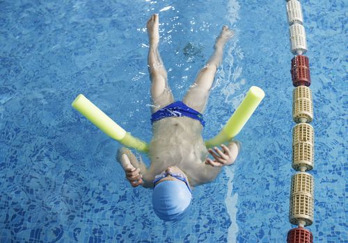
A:
[[[205,110],[216,70],[221,65],[223,47],[225,47],[226,42],[228,42],[233,35],[234,32],[231,31],[228,26],[223,26],[219,37],[216,38],[212,56],[209,58],[205,67],[200,70],[196,81],[191,85],[189,92],[187,92],[184,97],[183,102],[200,113],[203,113]]]

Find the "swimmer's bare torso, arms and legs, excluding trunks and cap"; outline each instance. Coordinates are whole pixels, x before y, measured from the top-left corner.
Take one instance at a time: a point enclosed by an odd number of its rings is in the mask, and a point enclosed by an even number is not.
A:
[[[151,79],[152,115],[154,115],[167,106],[171,106],[175,100],[168,85],[166,69],[159,55],[158,15],[150,17],[147,29],[150,42],[148,67]],[[233,31],[223,26],[219,37],[216,38],[212,56],[200,70],[182,100],[184,105],[200,116],[203,116],[214,76],[221,64],[223,47],[232,36]],[[203,124],[204,122],[192,117],[171,117],[170,115],[153,122],[153,137],[149,149],[150,167],[146,167],[129,149],[122,148],[119,160],[131,185],[153,187],[152,181],[155,176],[164,171],[183,173],[190,187],[214,180],[221,171],[221,167],[231,165],[235,161],[239,147],[236,142],[230,142],[228,146],[221,144],[222,150],[217,147],[214,147],[214,150],[207,150],[201,135]],[[209,154],[214,157],[214,160],[208,157]],[[166,180],[174,181],[175,178],[169,175],[161,181]]]

